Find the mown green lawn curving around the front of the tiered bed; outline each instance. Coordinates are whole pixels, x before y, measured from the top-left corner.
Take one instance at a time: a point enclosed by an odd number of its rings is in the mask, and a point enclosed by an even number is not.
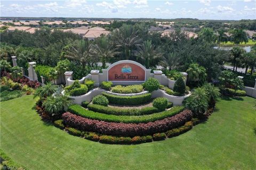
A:
[[[69,135],[24,96],[0,103],[1,148],[28,169],[255,169],[255,99],[240,99],[222,99],[209,121],[179,137],[130,146]]]

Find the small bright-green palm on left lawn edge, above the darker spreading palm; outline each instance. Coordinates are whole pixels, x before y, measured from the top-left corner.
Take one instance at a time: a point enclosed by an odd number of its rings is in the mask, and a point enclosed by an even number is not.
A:
[[[57,89],[58,89],[58,86],[53,85],[51,83],[47,83],[44,86],[36,89],[34,98],[39,97],[40,99],[44,99],[48,96],[53,95]]]

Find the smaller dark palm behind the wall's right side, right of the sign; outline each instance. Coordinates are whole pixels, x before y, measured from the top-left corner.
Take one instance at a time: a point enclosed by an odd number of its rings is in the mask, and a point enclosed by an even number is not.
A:
[[[159,63],[161,66],[167,68],[169,67],[169,70],[177,69],[181,62],[180,56],[178,56],[177,53],[169,53],[167,55],[164,55],[163,60]]]

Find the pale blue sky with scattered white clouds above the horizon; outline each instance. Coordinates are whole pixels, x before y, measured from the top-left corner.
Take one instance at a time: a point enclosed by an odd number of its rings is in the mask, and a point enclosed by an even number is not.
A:
[[[1,16],[22,17],[256,19],[256,0],[1,0],[0,7]]]

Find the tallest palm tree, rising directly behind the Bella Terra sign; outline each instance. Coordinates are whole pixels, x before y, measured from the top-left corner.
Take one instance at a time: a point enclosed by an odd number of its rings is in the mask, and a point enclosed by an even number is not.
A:
[[[132,25],[123,24],[122,27],[112,32],[111,37],[117,47],[124,48],[126,60],[129,60],[131,57],[132,48],[141,43],[137,31]]]

